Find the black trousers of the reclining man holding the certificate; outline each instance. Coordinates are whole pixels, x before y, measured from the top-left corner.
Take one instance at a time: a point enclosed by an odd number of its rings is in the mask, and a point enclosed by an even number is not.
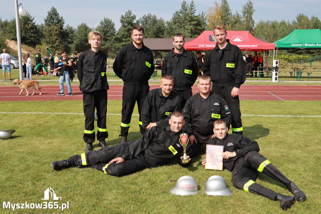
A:
[[[278,193],[254,182],[257,178],[258,171],[285,186],[289,185],[291,182],[273,164],[271,164],[266,157],[253,151],[247,153],[245,157],[240,158],[237,165],[234,167],[232,171],[233,186],[243,189],[246,192],[252,192],[275,200]]]

